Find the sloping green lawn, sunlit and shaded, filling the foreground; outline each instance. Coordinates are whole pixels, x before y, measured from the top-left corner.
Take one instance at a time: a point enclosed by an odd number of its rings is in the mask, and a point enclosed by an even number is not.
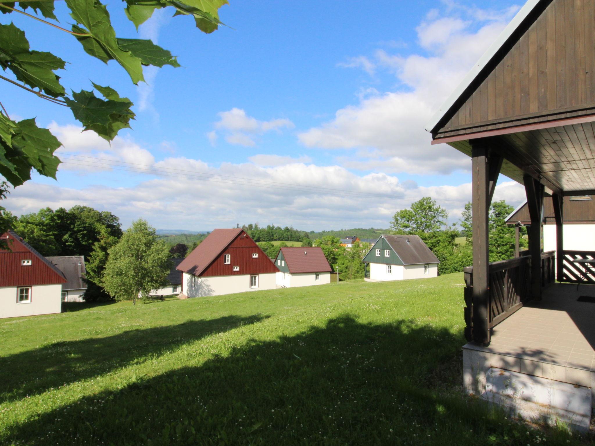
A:
[[[352,281],[0,319],[0,444],[579,444],[461,396],[462,286]]]

